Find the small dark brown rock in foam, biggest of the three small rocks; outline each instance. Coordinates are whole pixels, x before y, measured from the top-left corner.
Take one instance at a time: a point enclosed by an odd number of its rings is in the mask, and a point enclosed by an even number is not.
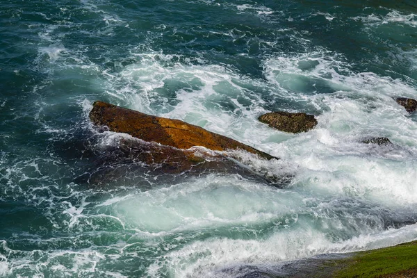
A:
[[[271,112],[261,115],[259,121],[289,133],[306,132],[317,124],[316,117],[306,113]]]

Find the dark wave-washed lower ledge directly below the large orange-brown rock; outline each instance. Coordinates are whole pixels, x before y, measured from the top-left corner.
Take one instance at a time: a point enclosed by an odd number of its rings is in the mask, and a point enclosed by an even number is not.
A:
[[[120,138],[117,144],[104,147],[95,144],[90,152],[93,165],[76,181],[95,187],[122,184],[147,190],[206,174],[238,174],[243,179],[279,188],[291,181],[291,177],[277,177],[250,166],[242,167],[232,158],[233,154],[224,156],[204,148],[177,149],[136,138]],[[255,155],[251,156],[256,159]]]

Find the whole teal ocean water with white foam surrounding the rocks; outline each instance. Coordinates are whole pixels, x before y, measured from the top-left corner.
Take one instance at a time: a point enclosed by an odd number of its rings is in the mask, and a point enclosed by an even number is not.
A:
[[[417,98],[415,0],[1,0],[0,277],[250,277],[415,240],[417,114],[395,97]],[[244,142],[291,179],[125,159],[95,100]],[[270,111],[318,126],[282,133]]]

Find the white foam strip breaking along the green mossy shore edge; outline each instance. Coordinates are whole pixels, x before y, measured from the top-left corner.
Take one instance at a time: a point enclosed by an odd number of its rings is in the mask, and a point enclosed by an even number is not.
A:
[[[359,236],[343,243],[332,243],[309,228],[281,231],[266,240],[212,238],[170,252],[149,267],[149,274],[158,277],[162,268],[167,268],[173,277],[234,277],[221,270],[238,265],[274,265],[323,253],[368,250],[416,238],[416,225],[379,235]]]

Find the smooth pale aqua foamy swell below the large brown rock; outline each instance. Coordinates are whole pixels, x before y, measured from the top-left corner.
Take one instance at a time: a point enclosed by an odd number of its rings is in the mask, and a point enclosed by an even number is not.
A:
[[[229,224],[260,224],[296,210],[294,205],[299,202],[297,194],[238,175],[210,175],[169,188],[134,193],[114,207],[117,217],[138,231],[161,236]]]

